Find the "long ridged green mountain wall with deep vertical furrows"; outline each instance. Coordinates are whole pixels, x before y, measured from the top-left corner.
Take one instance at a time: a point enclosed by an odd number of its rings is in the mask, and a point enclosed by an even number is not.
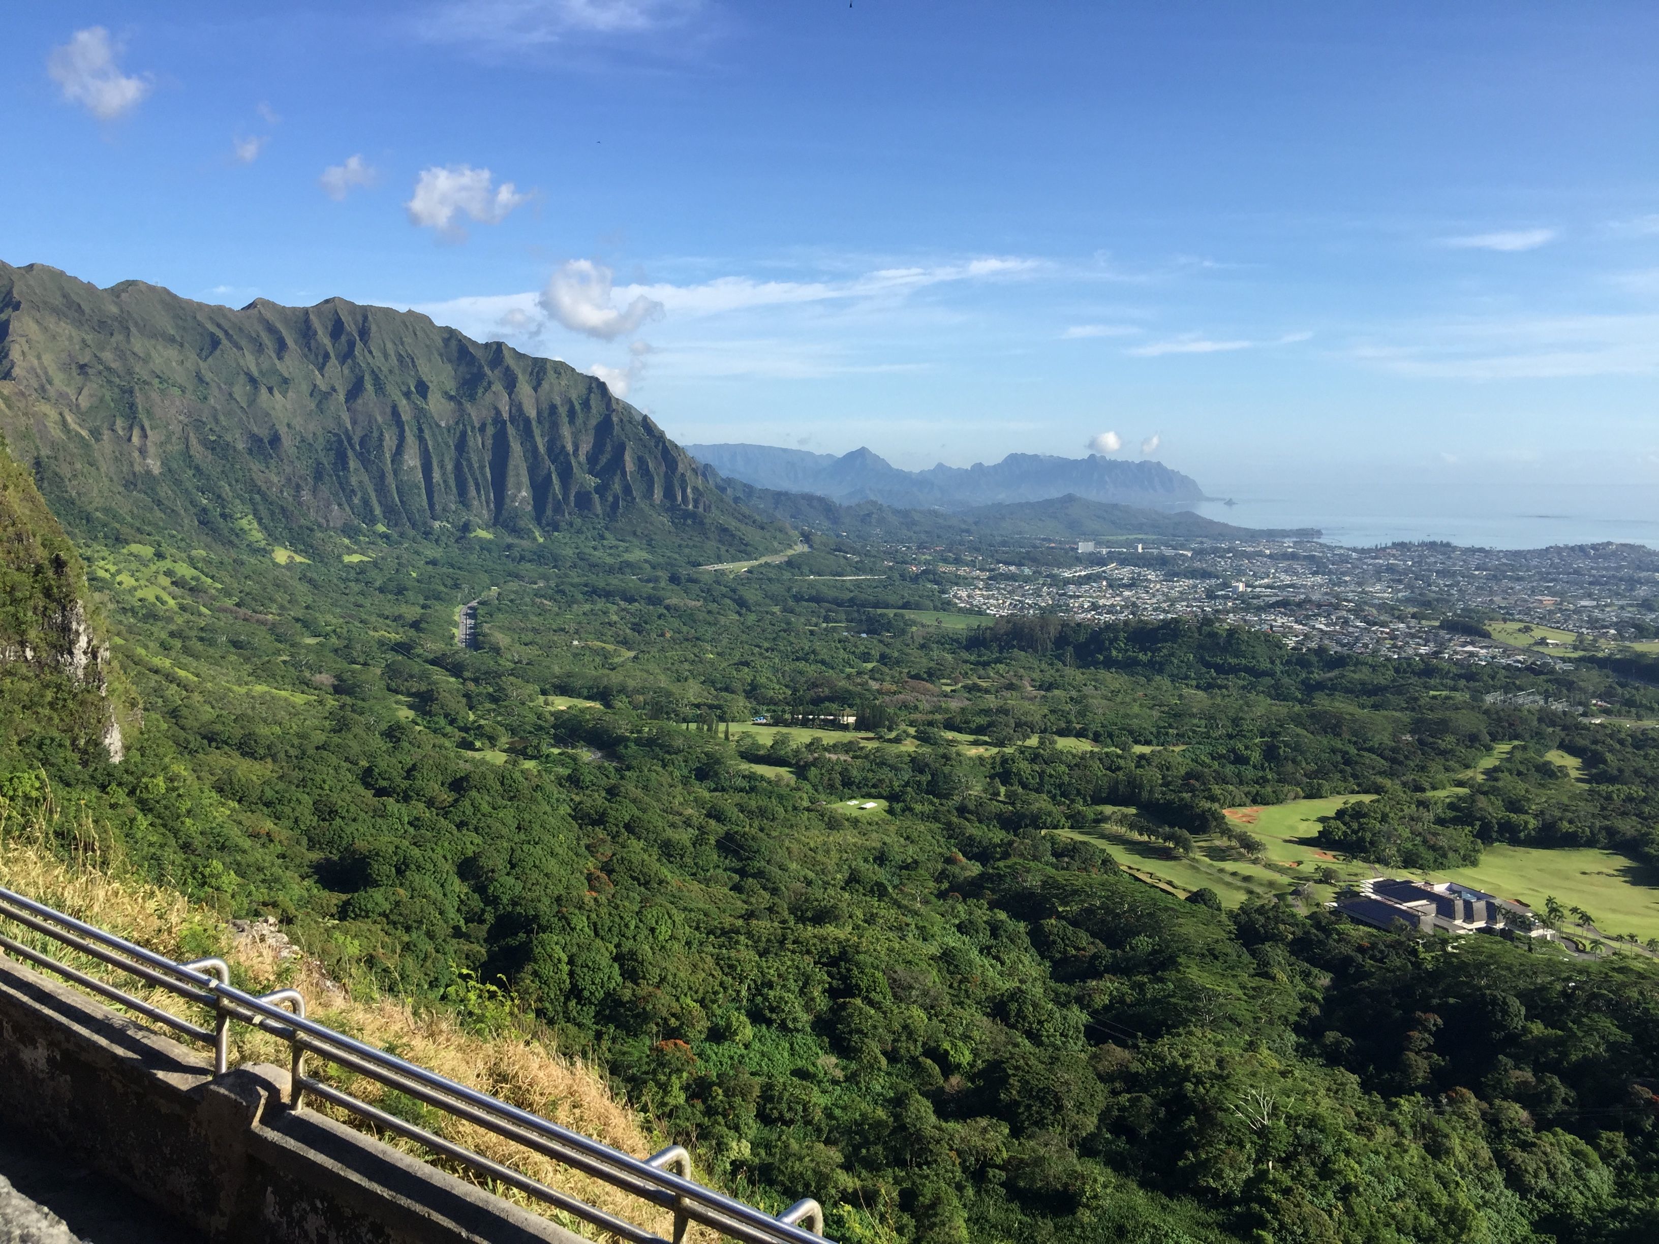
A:
[[[0,433],[66,519],[753,522],[599,380],[340,299],[231,310],[0,264]]]

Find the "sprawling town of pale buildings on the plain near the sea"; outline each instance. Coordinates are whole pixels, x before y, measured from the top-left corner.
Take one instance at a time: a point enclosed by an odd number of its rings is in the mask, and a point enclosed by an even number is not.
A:
[[[1060,567],[956,556],[936,569],[949,576],[942,582],[959,609],[1090,622],[1214,617],[1269,630],[1291,647],[1380,657],[1563,663],[1551,652],[1563,647],[1558,640],[1516,647],[1440,625],[1460,614],[1586,642],[1647,639],[1659,624],[1659,552],[1627,544],[1495,551],[1231,541],[1173,549],[1085,541],[1072,556]]]

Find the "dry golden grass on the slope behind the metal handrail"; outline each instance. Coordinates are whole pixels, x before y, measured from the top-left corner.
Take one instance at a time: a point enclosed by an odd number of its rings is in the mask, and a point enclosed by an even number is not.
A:
[[[644,1158],[659,1148],[659,1141],[650,1136],[639,1115],[619,1100],[594,1067],[554,1050],[544,1032],[523,1017],[513,1015],[509,1000],[494,999],[508,1022],[493,1025],[498,1028],[493,1033],[479,1033],[463,1027],[448,1012],[416,1008],[397,999],[342,989],[324,975],[317,962],[289,945],[287,939],[260,935],[262,931],[257,926],[252,932],[237,934],[216,912],[189,902],[176,891],[126,876],[119,859],[111,858],[108,839],[96,833],[96,826],[86,823],[66,826],[66,819],[70,818],[60,816],[58,809],[51,808],[50,799],[30,799],[25,806],[8,803],[0,796],[0,886],[171,959],[222,955],[231,964],[239,989],[255,994],[274,989],[299,989],[305,995],[310,1018],[601,1140],[635,1158]],[[48,826],[53,821],[56,821],[55,828],[60,833],[48,836]],[[65,828],[70,833],[61,833]],[[63,859],[46,846],[48,841],[73,841],[76,849],[70,859]],[[5,924],[10,926],[10,922]],[[141,997],[151,1005],[161,1005],[181,1018],[194,1023],[207,1022],[207,1013],[202,1008],[161,990],[134,989],[138,982],[131,977],[106,969],[96,960],[75,955],[58,942],[35,934],[23,935],[17,926],[7,927],[5,932],[32,949],[45,950],[83,972],[108,979],[134,997]],[[129,1018],[141,1017],[129,1015]],[[154,1027],[161,1032],[171,1032],[161,1025]],[[178,1037],[178,1033],[171,1035]],[[231,1040],[232,1067],[249,1062],[287,1067],[287,1045],[269,1033],[232,1025]],[[450,1115],[430,1110],[370,1080],[320,1065],[315,1055],[307,1060],[307,1071],[353,1096],[378,1105],[388,1113],[513,1166],[551,1188],[649,1227],[659,1236],[670,1237],[672,1221],[667,1212],[606,1183],[552,1163]],[[314,1101],[307,1108],[317,1108],[317,1103]],[[352,1126],[380,1135],[332,1106],[322,1108]],[[431,1159],[425,1149],[401,1138],[380,1135],[380,1140]],[[445,1166],[461,1178],[491,1186],[506,1199],[542,1212],[572,1231],[591,1237],[606,1237],[579,1219],[552,1211],[514,1189],[488,1184],[471,1176],[465,1168],[443,1161],[435,1161],[435,1164]],[[715,1232],[693,1226],[690,1237],[707,1244],[715,1239]]]

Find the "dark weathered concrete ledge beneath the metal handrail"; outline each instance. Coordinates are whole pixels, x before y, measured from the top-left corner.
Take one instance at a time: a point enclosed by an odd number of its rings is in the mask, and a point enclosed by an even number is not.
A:
[[[579,1236],[315,1111],[289,1073],[196,1050],[0,957],[0,1123],[216,1241],[577,1244]]]

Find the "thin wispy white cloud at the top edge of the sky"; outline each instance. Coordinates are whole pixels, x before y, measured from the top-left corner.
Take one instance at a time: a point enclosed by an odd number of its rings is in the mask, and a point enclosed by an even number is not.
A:
[[[684,27],[700,0],[446,0],[418,22],[435,43],[513,50]]]

